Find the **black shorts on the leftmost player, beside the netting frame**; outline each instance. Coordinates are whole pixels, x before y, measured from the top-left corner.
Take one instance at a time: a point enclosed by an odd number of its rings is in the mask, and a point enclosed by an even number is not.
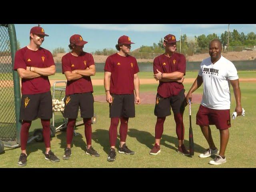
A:
[[[20,120],[32,121],[36,118],[52,118],[51,92],[22,95]]]

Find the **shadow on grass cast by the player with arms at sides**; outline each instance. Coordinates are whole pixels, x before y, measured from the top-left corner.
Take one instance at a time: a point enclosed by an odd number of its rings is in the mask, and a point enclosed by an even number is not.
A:
[[[120,143],[120,136],[117,136],[117,140],[116,140],[116,148],[119,148],[119,143]],[[96,129],[93,133],[92,133],[92,139],[100,144],[103,147],[104,152],[106,152],[106,154],[109,153],[110,150],[110,144],[109,144],[109,134],[108,134],[108,130],[103,130],[103,129]]]

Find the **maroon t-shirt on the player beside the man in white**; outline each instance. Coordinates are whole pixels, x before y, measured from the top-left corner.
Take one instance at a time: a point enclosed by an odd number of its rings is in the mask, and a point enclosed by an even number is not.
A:
[[[154,74],[158,73],[158,69],[162,73],[182,72],[186,73],[186,58],[184,55],[174,53],[171,57],[167,57],[164,54],[156,57],[153,64]],[[167,98],[170,96],[176,96],[184,88],[183,84],[178,82],[159,82],[157,88],[158,94]]]

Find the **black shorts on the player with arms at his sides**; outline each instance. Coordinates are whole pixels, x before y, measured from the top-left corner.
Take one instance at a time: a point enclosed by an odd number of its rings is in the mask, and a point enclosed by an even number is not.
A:
[[[109,117],[135,117],[134,94],[111,94],[113,101],[109,104]]]

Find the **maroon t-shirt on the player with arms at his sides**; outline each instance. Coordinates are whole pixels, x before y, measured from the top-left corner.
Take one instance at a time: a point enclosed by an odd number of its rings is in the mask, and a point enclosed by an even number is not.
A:
[[[110,55],[106,60],[104,70],[111,72],[110,93],[134,93],[134,74],[140,71],[135,57],[120,56],[117,53]]]

